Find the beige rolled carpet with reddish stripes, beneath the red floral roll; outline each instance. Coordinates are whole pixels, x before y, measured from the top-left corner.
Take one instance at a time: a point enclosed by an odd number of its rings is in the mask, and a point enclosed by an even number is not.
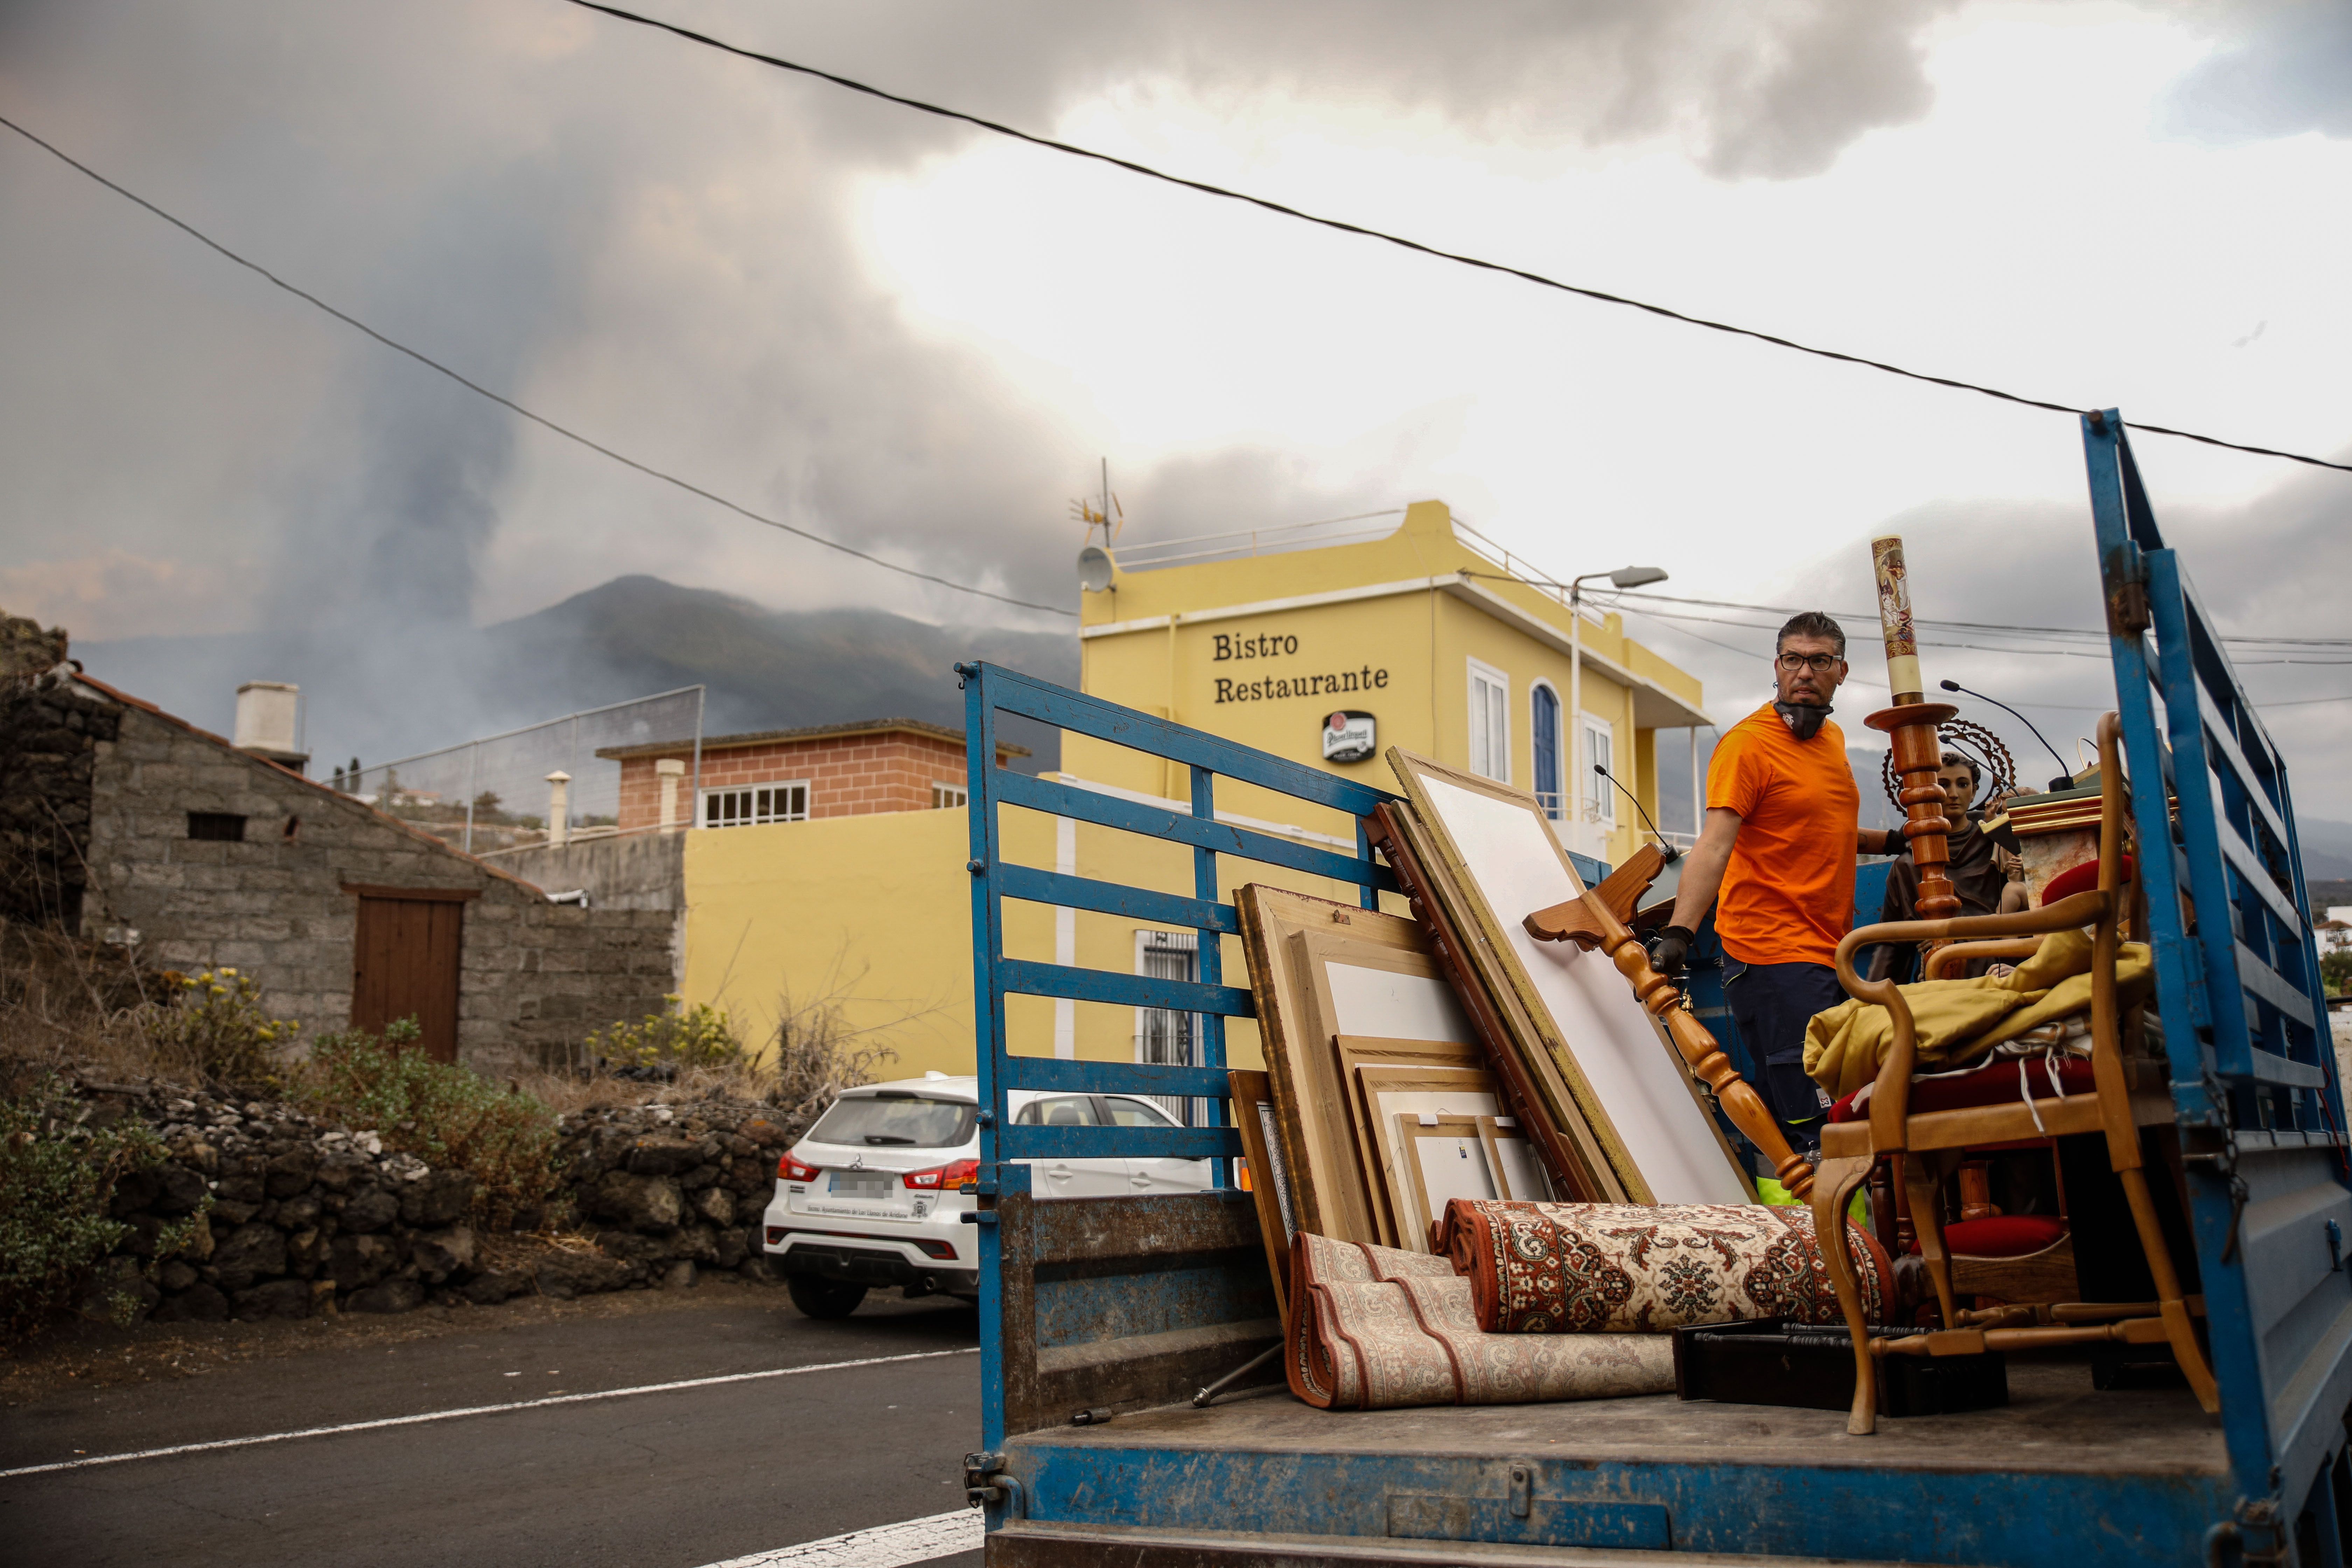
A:
[[[1324,1410],[1613,1399],[1675,1387],[1670,1335],[1486,1333],[1472,1314],[1470,1281],[1446,1258],[1315,1234],[1291,1239],[1284,1356],[1291,1392]]]

